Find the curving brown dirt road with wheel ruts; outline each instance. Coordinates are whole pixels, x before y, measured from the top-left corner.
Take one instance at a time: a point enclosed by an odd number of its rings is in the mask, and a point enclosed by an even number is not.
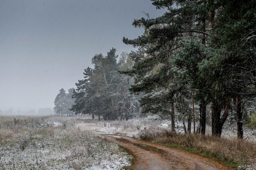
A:
[[[124,148],[133,152],[136,157],[133,170],[219,170],[228,169],[222,165],[213,165],[207,159],[176,149],[137,140],[133,137],[102,134]],[[215,162],[216,164],[216,162]],[[218,163],[217,163],[218,164]]]

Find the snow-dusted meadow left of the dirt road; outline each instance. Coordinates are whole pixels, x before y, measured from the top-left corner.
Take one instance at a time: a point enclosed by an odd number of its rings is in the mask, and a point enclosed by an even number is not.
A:
[[[14,120],[15,118],[15,120]],[[33,122],[31,122],[33,121]],[[117,144],[78,129],[74,118],[0,117],[1,169],[123,169]]]

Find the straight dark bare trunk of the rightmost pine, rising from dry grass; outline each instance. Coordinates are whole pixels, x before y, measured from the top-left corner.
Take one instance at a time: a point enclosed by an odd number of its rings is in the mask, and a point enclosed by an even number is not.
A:
[[[240,93],[238,91],[237,93]],[[239,95],[236,96],[236,115],[237,115],[237,138],[243,139],[244,138],[244,131],[243,131],[243,112],[241,107],[241,97]]]

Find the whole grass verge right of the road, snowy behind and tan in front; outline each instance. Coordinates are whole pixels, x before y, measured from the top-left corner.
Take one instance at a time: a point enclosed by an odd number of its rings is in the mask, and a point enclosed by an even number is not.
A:
[[[176,133],[171,132],[170,120],[161,120],[158,116],[148,116],[143,119],[128,121],[98,121],[79,119],[79,128],[90,129],[97,133],[122,134],[154,142],[172,144],[175,147],[186,148],[193,152],[213,156],[224,160],[241,169],[256,169],[256,133],[245,129],[246,140],[237,140],[235,124],[225,123],[222,136],[211,137],[211,127],[206,126],[206,136],[184,135],[183,124],[175,122]],[[186,123],[187,126],[187,123]],[[196,124],[197,127],[197,124]],[[187,127],[186,127],[187,128]],[[191,127],[193,133],[193,125]]]

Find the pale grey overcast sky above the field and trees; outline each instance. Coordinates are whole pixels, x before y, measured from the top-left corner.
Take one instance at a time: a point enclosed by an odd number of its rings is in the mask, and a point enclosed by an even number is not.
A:
[[[150,0],[0,0],[0,109],[53,108],[95,54],[134,50],[122,39],[142,34],[142,11],[164,13]]]

